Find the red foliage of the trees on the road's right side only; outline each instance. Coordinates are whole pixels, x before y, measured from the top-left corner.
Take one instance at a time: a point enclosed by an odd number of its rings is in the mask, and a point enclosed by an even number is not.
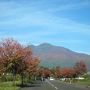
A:
[[[54,70],[55,77],[57,78],[75,78],[87,72],[87,65],[83,61],[76,62],[73,68],[60,68],[56,67]]]

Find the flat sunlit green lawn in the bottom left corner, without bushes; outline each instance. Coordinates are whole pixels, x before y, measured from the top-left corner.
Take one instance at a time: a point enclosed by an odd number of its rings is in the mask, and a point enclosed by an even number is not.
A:
[[[18,84],[19,82],[16,82]],[[0,90],[19,90],[20,87],[14,86],[13,82],[0,82]]]

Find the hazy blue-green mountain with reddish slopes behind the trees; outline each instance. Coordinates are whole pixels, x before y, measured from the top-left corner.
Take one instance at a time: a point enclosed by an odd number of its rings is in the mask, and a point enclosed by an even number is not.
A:
[[[90,55],[77,53],[61,46],[43,43],[38,46],[29,45],[34,55],[41,60],[41,65],[46,67],[72,67],[77,61],[83,60],[90,70]]]

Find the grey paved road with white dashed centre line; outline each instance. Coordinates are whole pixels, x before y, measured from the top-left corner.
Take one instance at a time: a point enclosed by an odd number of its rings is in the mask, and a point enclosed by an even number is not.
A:
[[[90,90],[90,88],[74,84],[66,84],[57,80],[46,80],[45,82],[38,81],[35,84],[21,88],[21,90]]]

